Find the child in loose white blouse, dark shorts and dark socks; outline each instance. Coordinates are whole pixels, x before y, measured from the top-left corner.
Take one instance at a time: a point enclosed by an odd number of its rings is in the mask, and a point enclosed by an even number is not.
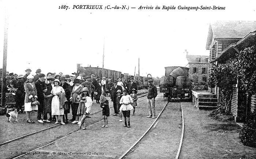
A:
[[[131,127],[130,125],[130,114],[131,110],[133,109],[131,103],[133,102],[132,98],[130,95],[127,94],[127,90],[123,90],[123,96],[120,99],[120,111],[123,112],[124,115],[124,127]],[[128,122],[128,125],[127,125]]]

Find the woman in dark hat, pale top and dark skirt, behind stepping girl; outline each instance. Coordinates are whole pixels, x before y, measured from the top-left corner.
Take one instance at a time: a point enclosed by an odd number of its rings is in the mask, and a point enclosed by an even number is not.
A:
[[[79,106],[79,101],[77,99],[77,96],[82,93],[83,87],[79,83],[79,79],[74,79],[74,87],[72,89],[71,95],[70,95],[70,101],[71,101],[71,109],[72,109],[72,119],[74,120],[72,124],[78,123],[78,115],[77,110]]]

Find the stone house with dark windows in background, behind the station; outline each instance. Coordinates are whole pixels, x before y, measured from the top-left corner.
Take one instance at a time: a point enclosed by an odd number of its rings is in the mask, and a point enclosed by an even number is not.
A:
[[[187,55],[189,72],[188,76],[194,83],[206,84],[209,76],[209,56]]]

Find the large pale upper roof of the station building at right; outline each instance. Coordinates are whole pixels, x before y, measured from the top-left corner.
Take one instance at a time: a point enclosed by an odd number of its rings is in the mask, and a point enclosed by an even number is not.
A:
[[[215,21],[208,31],[206,49],[210,49],[213,38],[242,38],[248,32],[256,31],[256,21]]]

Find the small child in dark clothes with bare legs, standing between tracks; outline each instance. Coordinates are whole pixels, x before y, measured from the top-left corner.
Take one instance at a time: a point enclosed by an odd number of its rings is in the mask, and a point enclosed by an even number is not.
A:
[[[109,116],[109,101],[106,99],[106,93],[103,92],[99,98],[99,102],[101,103],[102,108],[102,116],[103,116],[103,123],[102,127],[109,127],[108,126],[108,116]]]

